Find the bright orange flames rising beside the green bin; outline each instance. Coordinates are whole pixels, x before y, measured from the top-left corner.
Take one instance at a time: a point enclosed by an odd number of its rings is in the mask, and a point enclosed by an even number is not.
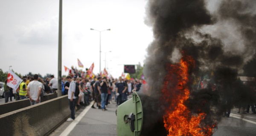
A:
[[[213,133],[215,125],[201,122],[206,113],[192,114],[184,103],[190,94],[189,71],[194,67],[195,60],[191,56],[182,57],[175,65],[167,65],[168,74],[162,92],[163,100],[170,104],[163,116],[168,136],[211,136]]]

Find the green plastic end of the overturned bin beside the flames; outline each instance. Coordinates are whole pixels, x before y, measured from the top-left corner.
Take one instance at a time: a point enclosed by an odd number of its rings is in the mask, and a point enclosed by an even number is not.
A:
[[[143,126],[143,107],[140,96],[134,92],[132,98],[117,108],[117,135],[140,136]]]

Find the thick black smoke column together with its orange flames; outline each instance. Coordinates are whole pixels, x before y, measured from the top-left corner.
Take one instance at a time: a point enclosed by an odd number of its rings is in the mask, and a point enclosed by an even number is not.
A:
[[[209,0],[148,0],[145,23],[154,41],[144,74],[168,136],[212,136],[224,113],[253,101],[237,75],[256,68],[256,2],[217,1],[210,11]],[[193,88],[207,71],[212,84]]]

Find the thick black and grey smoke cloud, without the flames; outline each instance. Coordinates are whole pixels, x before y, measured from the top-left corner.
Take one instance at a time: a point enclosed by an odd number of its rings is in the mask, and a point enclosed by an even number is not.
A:
[[[256,1],[222,0],[215,8],[210,14],[204,0],[148,0],[145,20],[154,33],[143,71],[150,86],[148,95],[161,99],[166,66],[175,63],[174,51],[192,56],[196,67],[189,74],[200,77],[212,71],[212,83],[218,85],[215,92],[211,88],[192,92],[186,102],[193,113],[207,113],[206,125],[220,121],[226,108],[248,103],[253,90],[237,80],[237,75],[256,67]],[[226,26],[241,37],[231,37],[233,33],[223,31],[228,30]],[[232,42],[237,40],[241,42]]]

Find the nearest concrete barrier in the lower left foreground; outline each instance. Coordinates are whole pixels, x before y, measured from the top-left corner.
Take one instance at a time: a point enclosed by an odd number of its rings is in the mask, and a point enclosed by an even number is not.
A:
[[[70,116],[66,96],[0,115],[3,136],[45,136]]]

